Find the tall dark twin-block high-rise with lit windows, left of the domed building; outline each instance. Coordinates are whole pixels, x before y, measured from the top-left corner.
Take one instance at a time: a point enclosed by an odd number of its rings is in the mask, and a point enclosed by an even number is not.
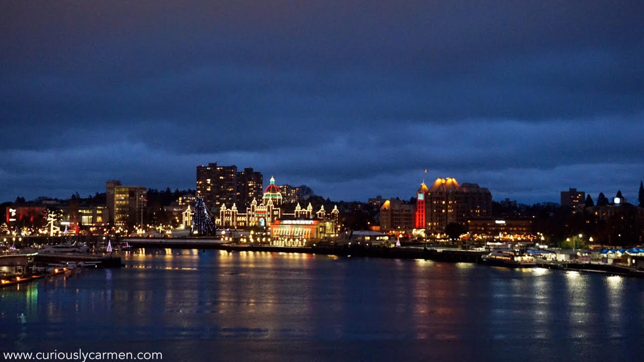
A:
[[[250,205],[253,199],[261,200],[263,177],[251,167],[238,172],[237,166],[197,166],[197,195],[204,198],[208,207],[218,212],[222,204]]]

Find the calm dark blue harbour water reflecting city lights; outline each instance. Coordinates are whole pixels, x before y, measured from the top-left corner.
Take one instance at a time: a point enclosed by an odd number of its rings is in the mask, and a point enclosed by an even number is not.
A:
[[[166,361],[637,361],[644,280],[467,263],[147,249],[0,289],[0,349]]]

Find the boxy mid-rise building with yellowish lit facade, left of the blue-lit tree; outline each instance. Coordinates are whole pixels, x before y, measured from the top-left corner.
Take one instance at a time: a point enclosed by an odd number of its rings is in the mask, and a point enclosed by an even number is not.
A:
[[[106,184],[106,201],[111,224],[141,224],[142,213],[147,205],[146,195],[147,188],[144,186],[122,186],[119,180],[109,180]]]

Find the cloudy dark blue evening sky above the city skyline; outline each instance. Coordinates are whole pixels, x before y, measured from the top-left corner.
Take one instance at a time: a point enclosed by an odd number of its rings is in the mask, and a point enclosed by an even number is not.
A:
[[[1,1],[0,201],[208,162],[334,200],[453,176],[634,201],[642,24],[641,0]]]

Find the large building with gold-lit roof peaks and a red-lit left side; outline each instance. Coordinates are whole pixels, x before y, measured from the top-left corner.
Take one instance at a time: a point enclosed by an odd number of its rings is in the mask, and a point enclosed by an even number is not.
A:
[[[451,223],[467,226],[468,220],[492,214],[492,194],[486,187],[460,185],[455,178],[437,178],[431,187],[423,182],[416,196],[414,225],[424,224],[428,234],[444,233]]]

